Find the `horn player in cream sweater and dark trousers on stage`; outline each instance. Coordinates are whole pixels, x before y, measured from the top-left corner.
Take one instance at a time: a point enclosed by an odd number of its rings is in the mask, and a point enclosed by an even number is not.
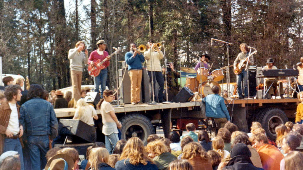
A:
[[[159,43],[158,43],[159,44]],[[159,84],[158,91],[158,102],[164,102],[164,78],[162,75],[162,67],[160,60],[164,58],[163,52],[159,49],[161,45],[157,45],[156,43],[148,42],[147,43],[148,50],[144,52],[144,57],[146,60],[147,73],[149,76],[149,83],[151,83],[151,74],[153,75],[153,88],[155,90],[155,80]],[[159,47],[158,47],[159,46]]]

